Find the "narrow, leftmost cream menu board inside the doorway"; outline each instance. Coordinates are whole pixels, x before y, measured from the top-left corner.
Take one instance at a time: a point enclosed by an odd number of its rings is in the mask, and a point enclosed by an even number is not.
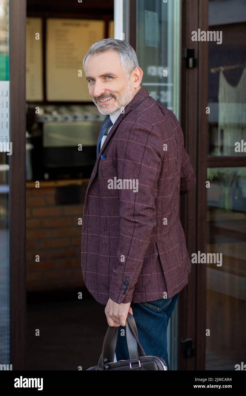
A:
[[[41,18],[26,18],[26,100],[43,100],[43,33]]]

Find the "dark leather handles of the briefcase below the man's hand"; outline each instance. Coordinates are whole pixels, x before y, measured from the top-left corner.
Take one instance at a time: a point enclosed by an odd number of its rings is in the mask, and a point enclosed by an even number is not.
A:
[[[118,327],[109,326],[106,331],[103,341],[103,350],[98,362],[98,367],[100,367],[101,370],[105,369],[107,363],[111,363],[114,360],[118,329]],[[126,318],[126,340],[130,360],[139,360],[139,354],[141,356],[146,356],[138,339],[136,322],[133,315],[130,313],[128,313]]]

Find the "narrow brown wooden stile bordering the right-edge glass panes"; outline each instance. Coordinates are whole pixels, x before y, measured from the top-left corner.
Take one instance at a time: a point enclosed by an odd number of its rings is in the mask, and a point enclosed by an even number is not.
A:
[[[208,30],[208,0],[199,0],[199,28]],[[199,42],[197,123],[197,250],[207,253],[208,42]],[[196,370],[206,368],[207,267],[196,271]]]

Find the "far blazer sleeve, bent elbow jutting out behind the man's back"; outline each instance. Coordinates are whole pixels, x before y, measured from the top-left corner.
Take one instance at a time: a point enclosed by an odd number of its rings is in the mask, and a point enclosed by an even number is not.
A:
[[[196,178],[194,170],[186,149],[183,147],[182,167],[180,173],[180,195],[190,192],[195,187],[195,184]]]

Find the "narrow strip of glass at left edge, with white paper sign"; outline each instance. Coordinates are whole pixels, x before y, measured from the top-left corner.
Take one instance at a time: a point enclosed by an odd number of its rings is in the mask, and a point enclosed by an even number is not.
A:
[[[9,2],[0,1],[0,364],[11,369],[9,305]]]

